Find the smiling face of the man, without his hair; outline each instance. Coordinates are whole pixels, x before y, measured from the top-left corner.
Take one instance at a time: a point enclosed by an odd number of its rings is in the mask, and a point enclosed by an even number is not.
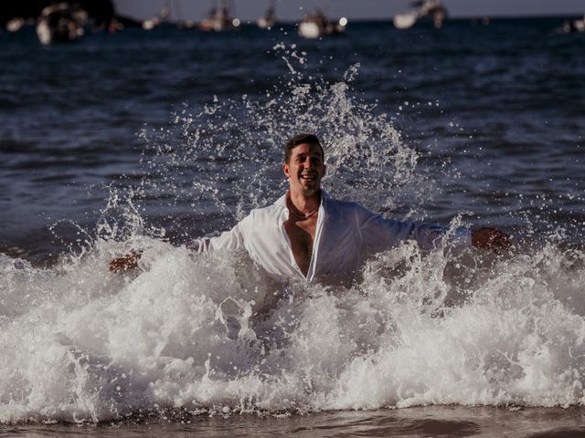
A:
[[[294,147],[289,162],[282,164],[289,177],[291,193],[312,196],[319,192],[325,174],[323,154],[318,144],[301,143]]]

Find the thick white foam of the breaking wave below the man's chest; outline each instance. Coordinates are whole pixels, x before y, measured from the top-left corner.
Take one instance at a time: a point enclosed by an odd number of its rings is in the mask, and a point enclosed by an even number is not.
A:
[[[548,269],[564,263],[554,245],[488,270],[403,245],[355,287],[281,290],[259,317],[266,290],[245,256],[152,244],[144,271],[122,276],[107,242],[45,270],[2,257],[0,421],[583,404],[583,268]]]

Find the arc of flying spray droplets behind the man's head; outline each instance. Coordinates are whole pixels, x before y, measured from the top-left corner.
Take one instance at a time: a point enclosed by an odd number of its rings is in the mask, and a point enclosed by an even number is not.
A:
[[[402,144],[387,116],[351,92],[359,65],[329,84],[308,75],[294,45],[274,50],[282,51],[291,74],[262,99],[216,98],[195,114],[185,105],[171,126],[143,131],[147,178],[133,195],[144,213],[164,210],[165,224],[177,215],[193,222],[214,214],[222,218],[220,229],[232,226],[284,192],[283,145],[299,132],[322,139],[324,187],[335,197],[381,211],[422,203],[431,177],[417,169],[418,152]]]

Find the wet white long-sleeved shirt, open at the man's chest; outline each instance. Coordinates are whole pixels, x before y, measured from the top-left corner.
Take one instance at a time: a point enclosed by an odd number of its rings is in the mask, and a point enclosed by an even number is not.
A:
[[[271,276],[335,283],[353,278],[367,250],[383,250],[414,239],[425,249],[436,247],[447,228],[436,224],[386,219],[357,203],[332,199],[321,191],[313,255],[307,276],[294,260],[284,223],[289,218],[286,194],[268,207],[254,209],[230,231],[187,245],[198,253],[245,249]],[[452,244],[471,246],[471,232],[460,228]]]

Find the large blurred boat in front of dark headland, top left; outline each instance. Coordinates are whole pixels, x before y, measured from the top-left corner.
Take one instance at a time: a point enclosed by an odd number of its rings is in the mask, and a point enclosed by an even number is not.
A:
[[[43,8],[37,18],[37,36],[41,44],[68,42],[85,34],[88,13],[77,5],[61,2]]]

